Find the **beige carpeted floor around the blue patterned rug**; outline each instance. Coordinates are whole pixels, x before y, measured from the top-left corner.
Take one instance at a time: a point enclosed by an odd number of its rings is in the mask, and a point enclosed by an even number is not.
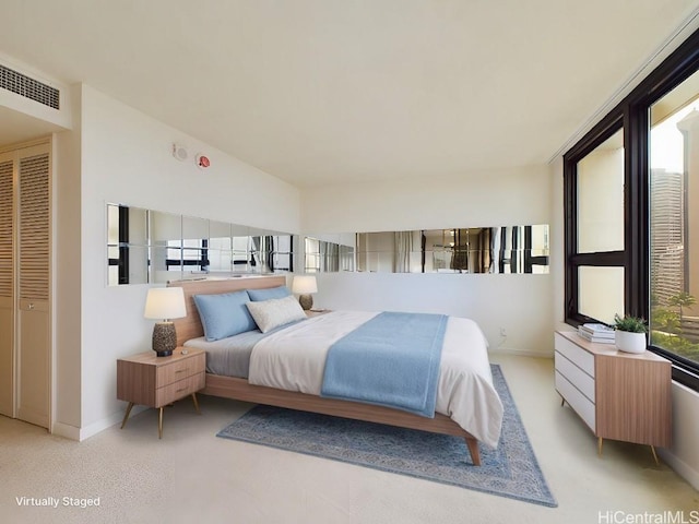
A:
[[[250,404],[201,395],[132,414],[83,442],[0,416],[0,522],[12,524],[591,524],[689,522],[699,493],[644,445],[597,439],[560,405],[550,358],[501,366],[557,508],[214,436]],[[21,505],[22,497],[99,507]],[[609,516],[612,515],[612,516]],[[601,521],[602,520],[602,521]],[[679,520],[675,522],[679,522]],[[653,522],[656,522],[653,521]]]

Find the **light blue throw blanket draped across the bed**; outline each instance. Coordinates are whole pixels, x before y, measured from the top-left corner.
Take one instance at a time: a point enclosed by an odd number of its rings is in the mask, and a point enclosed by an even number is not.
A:
[[[376,315],[330,346],[320,394],[434,417],[447,319]]]

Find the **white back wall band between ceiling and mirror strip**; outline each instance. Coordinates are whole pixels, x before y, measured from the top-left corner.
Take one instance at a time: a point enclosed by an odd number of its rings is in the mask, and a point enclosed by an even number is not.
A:
[[[304,189],[304,231],[356,233],[547,224],[548,167]]]

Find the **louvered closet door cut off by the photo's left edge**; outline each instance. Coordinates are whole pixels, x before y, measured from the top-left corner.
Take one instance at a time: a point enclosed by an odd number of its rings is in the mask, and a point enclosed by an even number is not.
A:
[[[0,154],[0,414],[14,417],[14,153]]]

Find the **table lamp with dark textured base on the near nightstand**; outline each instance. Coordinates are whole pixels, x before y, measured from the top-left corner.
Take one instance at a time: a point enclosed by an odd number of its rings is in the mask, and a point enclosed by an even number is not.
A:
[[[171,319],[187,315],[185,293],[181,287],[154,287],[145,298],[146,319],[158,319],[153,326],[153,350],[158,357],[168,357],[177,347],[177,332]]]

